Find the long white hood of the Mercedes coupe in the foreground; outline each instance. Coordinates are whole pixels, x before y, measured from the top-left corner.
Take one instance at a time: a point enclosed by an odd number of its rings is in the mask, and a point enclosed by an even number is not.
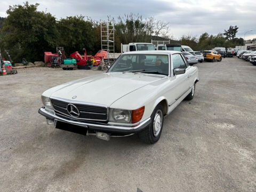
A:
[[[122,98],[124,95],[156,82],[163,77],[165,76],[105,73],[53,87],[43,93],[43,95],[51,98],[100,103],[101,105],[110,106],[111,103]]]

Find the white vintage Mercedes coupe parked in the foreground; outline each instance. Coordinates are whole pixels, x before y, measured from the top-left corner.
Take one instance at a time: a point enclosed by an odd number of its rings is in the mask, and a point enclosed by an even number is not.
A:
[[[38,112],[58,129],[104,140],[138,133],[143,142],[155,143],[164,116],[193,99],[198,81],[198,68],[181,52],[126,52],[105,74],[46,90]]]

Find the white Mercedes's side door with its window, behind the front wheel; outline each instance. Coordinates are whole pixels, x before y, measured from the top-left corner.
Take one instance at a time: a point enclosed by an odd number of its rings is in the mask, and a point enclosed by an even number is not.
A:
[[[175,68],[185,68],[185,74],[174,75],[173,70]],[[167,99],[169,102],[169,110],[173,110],[178,103],[181,101],[182,96],[188,91],[188,75],[190,73],[187,62],[183,59],[182,53],[175,53],[171,55],[171,77],[170,77],[170,88],[167,92]]]

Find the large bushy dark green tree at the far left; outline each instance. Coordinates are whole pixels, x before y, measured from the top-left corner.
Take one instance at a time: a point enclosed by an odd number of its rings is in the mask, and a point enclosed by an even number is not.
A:
[[[5,49],[12,59],[20,62],[42,60],[44,51],[53,51],[58,41],[55,18],[50,13],[37,11],[39,4],[9,6],[2,32]]]

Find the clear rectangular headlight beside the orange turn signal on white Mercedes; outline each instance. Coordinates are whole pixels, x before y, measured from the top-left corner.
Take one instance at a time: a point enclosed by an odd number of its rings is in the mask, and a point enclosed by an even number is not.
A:
[[[118,123],[131,123],[131,110],[110,108],[109,121]]]

